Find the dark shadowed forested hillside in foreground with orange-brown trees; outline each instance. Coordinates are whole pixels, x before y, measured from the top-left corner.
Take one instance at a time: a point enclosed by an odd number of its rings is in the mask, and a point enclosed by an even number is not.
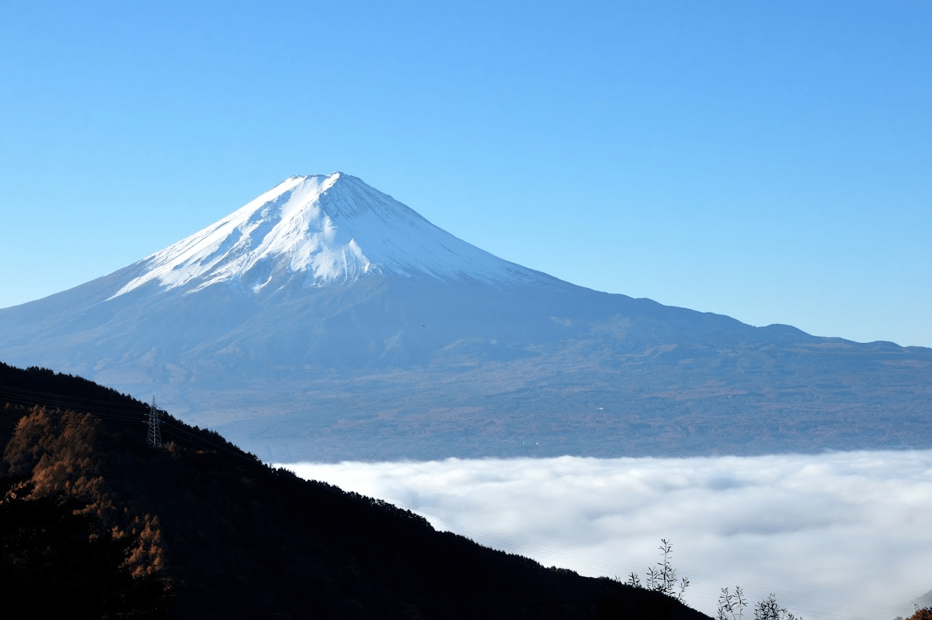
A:
[[[545,568],[48,369],[0,365],[0,594],[72,617],[703,618]]]

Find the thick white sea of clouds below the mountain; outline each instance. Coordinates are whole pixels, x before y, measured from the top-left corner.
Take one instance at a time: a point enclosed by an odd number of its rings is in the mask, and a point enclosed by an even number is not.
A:
[[[685,599],[774,593],[807,620],[889,620],[932,588],[932,451],[692,459],[289,463],[437,530],[583,575],[619,577],[673,545]]]

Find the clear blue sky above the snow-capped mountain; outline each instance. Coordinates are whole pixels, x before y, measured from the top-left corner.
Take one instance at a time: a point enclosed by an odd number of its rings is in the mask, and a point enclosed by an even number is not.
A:
[[[603,291],[932,346],[932,3],[0,0],[0,307],[342,171]]]

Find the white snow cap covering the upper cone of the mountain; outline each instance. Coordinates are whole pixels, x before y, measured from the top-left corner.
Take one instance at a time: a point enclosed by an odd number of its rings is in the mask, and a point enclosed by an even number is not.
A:
[[[187,293],[229,282],[257,293],[295,277],[303,286],[317,287],[373,273],[493,284],[553,282],[460,241],[341,172],[286,179],[138,265],[142,273],[113,297],[146,282],[158,282],[163,289],[183,287]]]

